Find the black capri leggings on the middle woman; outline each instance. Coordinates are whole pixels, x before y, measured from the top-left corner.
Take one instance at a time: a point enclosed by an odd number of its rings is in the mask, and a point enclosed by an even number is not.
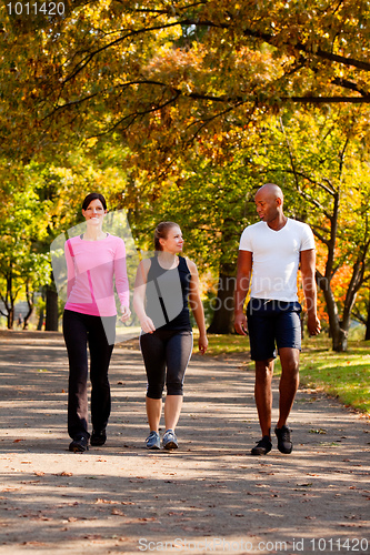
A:
[[[183,395],[183,377],[192,352],[191,330],[156,330],[140,335],[140,349],[148,377],[147,397]],[[167,372],[166,372],[167,371]]]

